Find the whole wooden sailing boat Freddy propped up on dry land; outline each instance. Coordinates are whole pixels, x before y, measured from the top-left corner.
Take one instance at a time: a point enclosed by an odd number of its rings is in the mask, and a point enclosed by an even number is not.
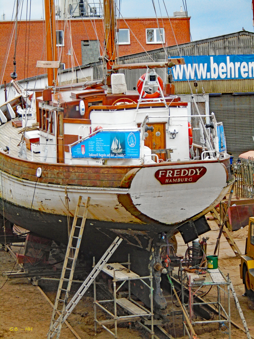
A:
[[[14,140],[9,152],[0,150],[1,211],[41,237],[67,243],[68,217],[79,196],[89,196],[84,253],[99,258],[117,233],[125,240],[118,260],[130,253],[133,270],[145,275],[149,265],[162,263],[161,249],[169,250],[166,238],[180,230],[191,241],[207,231],[203,216],[225,196],[234,177],[230,156],[218,141],[215,116],[188,116],[187,103],[166,96],[154,71],[184,61],[117,65],[113,0],[104,1],[104,11],[107,91],[90,83],[79,90],[36,93],[41,155],[18,157]],[[47,12],[55,13],[50,7]],[[49,20],[54,32],[54,16]],[[48,40],[47,51],[54,51],[54,38]],[[51,60],[54,52],[48,55]],[[142,86],[139,93],[129,92],[118,69],[138,67],[146,69]],[[51,68],[48,83],[57,84]],[[120,90],[115,83],[122,83]],[[192,118],[199,119],[205,141],[191,145]],[[0,127],[2,135],[8,125]],[[112,157],[110,140],[116,134],[124,140],[125,154]],[[120,153],[116,139],[114,150]],[[153,268],[153,274],[155,306],[164,309],[161,273]],[[146,302],[149,295],[140,298]]]

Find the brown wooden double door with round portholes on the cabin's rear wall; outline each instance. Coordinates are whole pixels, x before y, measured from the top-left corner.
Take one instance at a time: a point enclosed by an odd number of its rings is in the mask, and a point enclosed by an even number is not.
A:
[[[152,123],[147,126],[153,126],[153,132],[147,131],[145,138],[145,146],[151,148],[152,152],[156,149],[162,149],[164,153],[155,152],[159,159],[167,160],[166,149],[166,123]]]

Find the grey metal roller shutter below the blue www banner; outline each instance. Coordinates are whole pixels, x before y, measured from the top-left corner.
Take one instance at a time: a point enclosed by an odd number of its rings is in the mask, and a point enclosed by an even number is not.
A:
[[[209,96],[209,111],[215,113],[217,122],[223,122],[227,152],[234,161],[254,149],[254,95]]]

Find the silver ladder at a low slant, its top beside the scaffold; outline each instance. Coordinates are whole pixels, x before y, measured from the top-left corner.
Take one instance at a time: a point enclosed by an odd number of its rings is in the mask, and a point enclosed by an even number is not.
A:
[[[88,290],[88,287],[93,283],[94,279],[98,276],[98,274],[101,272],[104,265],[107,263],[109,258],[112,256],[112,254],[115,252],[115,250],[118,248],[120,243],[122,242],[122,238],[116,237],[115,240],[112,242],[112,244],[109,246],[107,251],[103,254],[99,262],[94,266],[91,273],[88,275],[86,280],[83,282],[83,284],[80,286],[77,293],[73,296],[71,301],[68,303],[68,305],[65,307],[64,311],[60,311],[61,315],[57,320],[53,320],[52,328],[50,325],[50,331],[48,333],[48,339],[51,339],[57,334],[57,338],[60,336],[61,326],[63,322],[68,318],[68,316],[71,314],[72,310],[75,308],[75,306],[78,304],[82,296],[85,294],[85,292]],[[66,300],[67,304],[67,300]],[[59,311],[59,310],[58,310]]]

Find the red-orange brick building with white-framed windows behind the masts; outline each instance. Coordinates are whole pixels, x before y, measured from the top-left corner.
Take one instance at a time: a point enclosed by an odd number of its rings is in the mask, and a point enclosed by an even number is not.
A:
[[[184,12],[182,12],[184,13]],[[184,13],[185,14],[185,13]],[[190,17],[175,16],[161,18],[127,18],[118,21],[117,38],[119,40],[119,56],[130,55],[161,48],[162,41],[167,46],[190,42]],[[172,31],[172,28],[174,31]],[[0,64],[1,79],[9,82],[13,72],[14,56],[14,26],[13,21],[0,21]],[[64,27],[65,26],[65,27]],[[100,17],[73,18],[68,21],[56,20],[57,46],[63,68],[98,61],[102,55],[104,44],[103,19]],[[64,29],[65,28],[65,29]],[[46,73],[43,68],[36,68],[37,60],[46,60],[44,44],[45,21],[31,20],[18,22],[17,68],[18,80]],[[70,38],[71,36],[71,38]],[[13,37],[13,41],[11,41]],[[11,41],[11,42],[10,42]],[[70,41],[72,41],[74,61],[71,61]],[[99,42],[98,42],[99,41]],[[10,49],[9,49],[10,46]],[[9,50],[9,52],[8,52]]]

